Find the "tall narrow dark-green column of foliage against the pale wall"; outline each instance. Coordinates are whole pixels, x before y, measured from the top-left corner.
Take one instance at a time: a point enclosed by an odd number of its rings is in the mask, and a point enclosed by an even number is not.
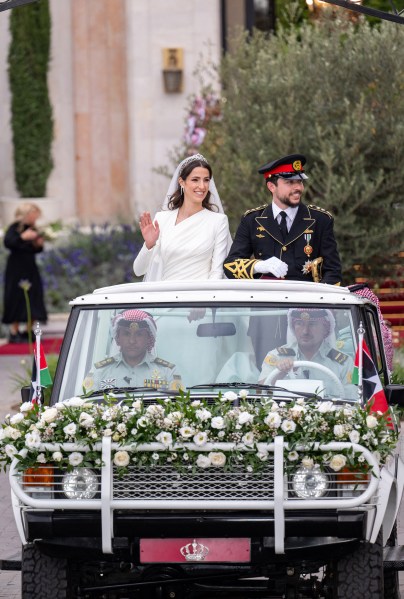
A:
[[[14,171],[23,197],[43,197],[52,170],[52,107],[48,95],[48,0],[11,11],[9,80]]]

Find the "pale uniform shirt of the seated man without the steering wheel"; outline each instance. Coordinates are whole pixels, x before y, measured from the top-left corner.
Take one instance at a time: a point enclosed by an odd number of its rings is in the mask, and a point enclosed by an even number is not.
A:
[[[140,364],[130,366],[119,353],[94,364],[83,381],[87,392],[113,387],[157,387],[177,390],[181,377],[175,364],[147,353]]]

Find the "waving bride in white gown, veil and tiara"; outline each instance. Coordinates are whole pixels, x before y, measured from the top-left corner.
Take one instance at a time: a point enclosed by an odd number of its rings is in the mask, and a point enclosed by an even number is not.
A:
[[[163,210],[140,216],[144,244],[134,263],[145,281],[223,278],[231,237],[227,216],[202,154],[177,166]]]

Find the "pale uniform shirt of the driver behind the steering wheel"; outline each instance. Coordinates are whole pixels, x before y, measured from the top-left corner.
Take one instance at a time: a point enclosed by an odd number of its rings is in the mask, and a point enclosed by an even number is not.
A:
[[[262,364],[261,374],[259,376],[260,381],[267,381],[268,376],[277,369],[277,364],[280,360],[290,358],[294,362],[305,360],[307,358],[299,350],[298,344],[292,343],[290,345],[283,345],[270,351]],[[341,381],[346,398],[355,399],[358,396],[358,389],[351,383],[353,361],[350,356],[344,354],[336,349],[330,348],[328,343],[322,343],[317,353],[309,360],[310,362],[316,362],[329,368],[334,374],[337,375]],[[296,376],[293,376],[296,375]],[[338,397],[340,392],[336,386],[335,381],[331,377],[327,376],[324,372],[315,368],[298,367],[293,369],[293,375],[288,372],[283,376],[284,379],[321,379],[324,381],[326,394]]]

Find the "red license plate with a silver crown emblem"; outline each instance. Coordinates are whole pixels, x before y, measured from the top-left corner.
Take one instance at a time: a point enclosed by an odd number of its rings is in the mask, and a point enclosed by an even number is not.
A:
[[[140,539],[140,563],[246,563],[250,539]]]

